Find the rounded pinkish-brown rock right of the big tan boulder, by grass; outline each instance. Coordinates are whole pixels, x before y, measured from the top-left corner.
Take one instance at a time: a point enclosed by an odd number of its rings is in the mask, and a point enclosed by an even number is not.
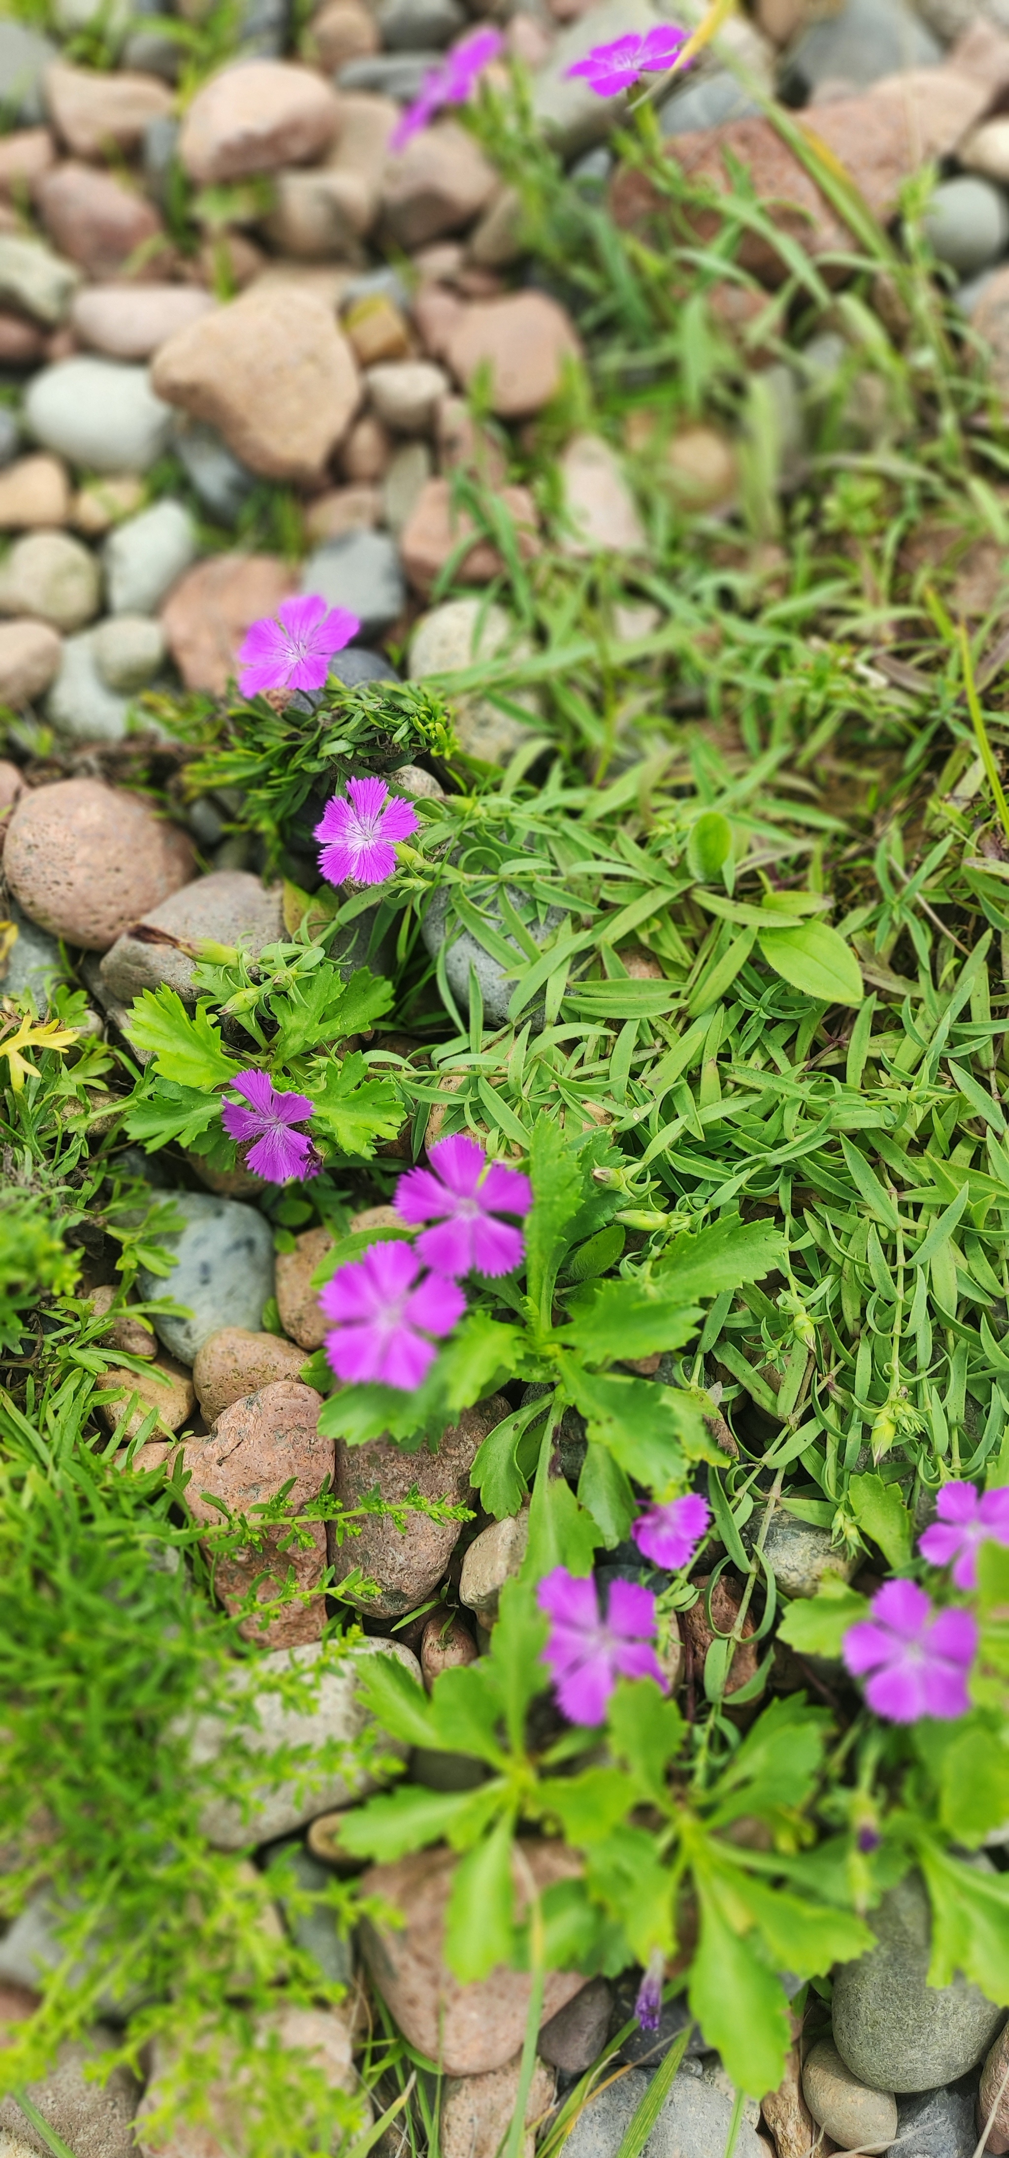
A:
[[[447,363],[465,388],[488,367],[493,412],[525,419],[555,397],[564,360],[579,352],[575,330],[555,300],[544,291],[514,291],[506,300],[467,306],[449,337]]]

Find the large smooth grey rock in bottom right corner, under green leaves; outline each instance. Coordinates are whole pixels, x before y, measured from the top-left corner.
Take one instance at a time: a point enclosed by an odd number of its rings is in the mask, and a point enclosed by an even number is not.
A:
[[[920,1873],[905,1873],[869,1912],[877,1947],[834,1977],[834,2044],[860,2082],[933,2091],[981,2061],[1005,2009],[959,1972],[927,1985],[931,1912]]]

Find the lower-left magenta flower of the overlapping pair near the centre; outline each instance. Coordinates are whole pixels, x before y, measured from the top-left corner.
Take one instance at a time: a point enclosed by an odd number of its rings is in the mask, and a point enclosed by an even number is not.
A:
[[[374,1243],[363,1258],[339,1267],[320,1295],[322,1316],[335,1319],[328,1362],[348,1385],[378,1379],[408,1394],[434,1362],[426,1336],[452,1334],[465,1308],[456,1282],[421,1273],[413,1245]]]

